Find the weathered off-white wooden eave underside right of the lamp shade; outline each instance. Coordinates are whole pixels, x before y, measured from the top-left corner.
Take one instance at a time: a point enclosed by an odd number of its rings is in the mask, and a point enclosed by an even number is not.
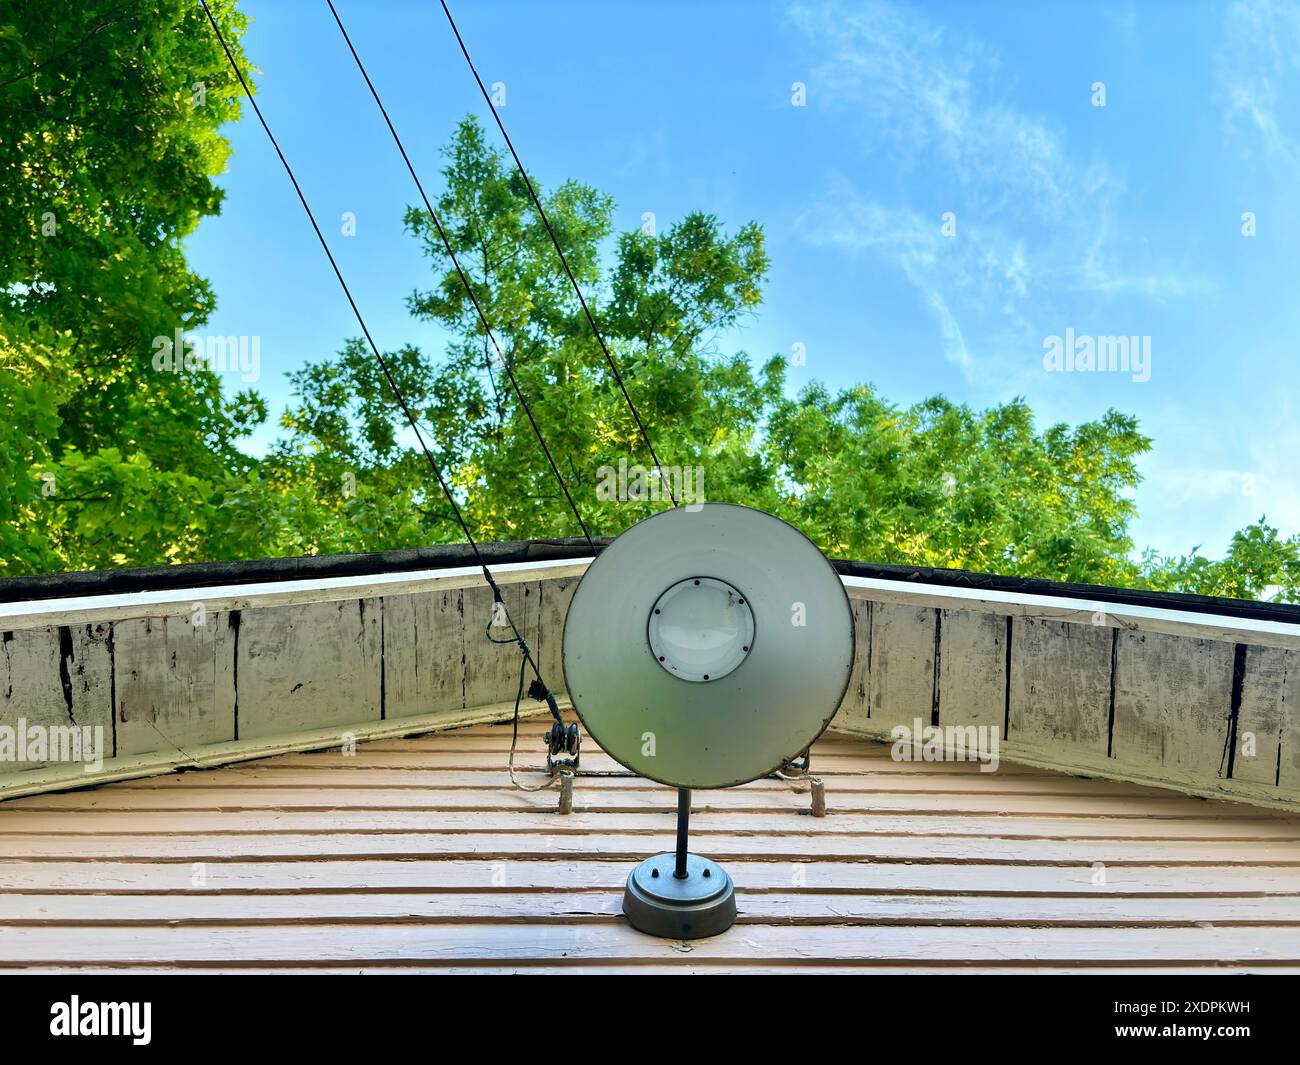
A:
[[[1297,627],[846,584],[859,624],[845,732],[983,727],[1008,762],[1300,809]]]

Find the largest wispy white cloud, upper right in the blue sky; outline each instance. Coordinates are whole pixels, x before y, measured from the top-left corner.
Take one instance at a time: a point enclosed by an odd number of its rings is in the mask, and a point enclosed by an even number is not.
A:
[[[954,204],[868,191],[836,173],[800,217],[806,238],[881,256],[935,316],[945,356],[967,380],[980,352],[1032,343],[1030,319],[1070,295],[1162,302],[1208,283],[1164,268],[1135,269],[1114,221],[1122,176],[1072,152],[1058,124],[1010,99],[1014,75],[996,49],[887,3],[801,4],[790,20],[819,56],[809,78],[819,105],[858,116],[874,166],[935,174],[959,187],[957,238],[940,231]],[[1080,107],[1088,105],[1080,86]],[[974,338],[979,350],[972,350]]]

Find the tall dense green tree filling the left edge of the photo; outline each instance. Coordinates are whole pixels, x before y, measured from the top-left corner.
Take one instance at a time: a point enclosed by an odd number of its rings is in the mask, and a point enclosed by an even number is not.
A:
[[[105,9],[107,8],[107,9]],[[238,49],[244,20],[212,4]],[[153,369],[202,324],[238,87],[190,0],[10,0],[0,23],[0,573],[187,559],[259,403]]]

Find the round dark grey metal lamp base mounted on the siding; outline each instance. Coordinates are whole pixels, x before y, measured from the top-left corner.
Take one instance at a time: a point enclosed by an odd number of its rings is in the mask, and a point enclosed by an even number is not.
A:
[[[686,875],[677,879],[676,854],[646,858],[628,875],[623,913],[640,932],[660,939],[703,939],[727,931],[736,921],[736,888],[718,862],[686,856]]]

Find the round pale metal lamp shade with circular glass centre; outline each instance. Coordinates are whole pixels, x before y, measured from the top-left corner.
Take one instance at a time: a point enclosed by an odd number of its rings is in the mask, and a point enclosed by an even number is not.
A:
[[[822,733],[853,640],[844,584],[803,533],[703,503],[640,521],[592,563],[564,623],[564,680],[586,731],[629,770],[725,788]]]

